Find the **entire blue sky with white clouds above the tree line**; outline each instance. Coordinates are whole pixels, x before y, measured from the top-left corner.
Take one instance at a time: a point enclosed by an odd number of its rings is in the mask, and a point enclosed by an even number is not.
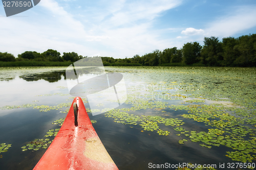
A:
[[[41,0],[6,17],[0,6],[0,52],[17,57],[48,49],[131,58],[216,36],[256,33],[255,0]]]

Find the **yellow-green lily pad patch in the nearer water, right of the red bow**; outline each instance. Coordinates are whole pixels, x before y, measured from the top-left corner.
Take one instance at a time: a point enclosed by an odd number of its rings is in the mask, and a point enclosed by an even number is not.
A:
[[[254,126],[254,113],[252,110],[245,110],[244,108],[227,107],[222,104],[197,104],[197,105],[167,105],[165,102],[143,101],[142,99],[136,100],[132,103],[131,108],[114,109],[105,114],[106,117],[114,118],[114,122],[122,123],[124,125],[139,125],[143,131],[157,131],[159,135],[169,135],[169,131],[164,131],[159,128],[160,124],[165,126],[173,126],[174,130],[180,132],[176,134],[178,136],[186,137],[179,140],[180,144],[184,144],[184,141],[198,142],[204,148],[211,149],[212,147],[220,147],[224,145],[227,148],[234,150],[232,152],[234,157],[232,160],[245,162],[256,159],[253,153],[256,152],[255,138],[246,140],[243,137],[254,137],[255,129],[242,126],[243,124],[253,124]],[[197,100],[188,103],[204,103],[202,100]],[[135,110],[155,109],[163,110],[170,108],[174,111],[185,110],[188,114],[181,114],[181,118],[194,119],[197,122],[204,123],[205,126],[212,127],[208,131],[187,131],[183,127],[184,122],[179,118],[165,118],[162,116],[145,116],[134,115],[128,112]],[[228,112],[229,111],[229,112]],[[235,115],[230,115],[230,111],[233,111]],[[245,114],[246,113],[246,114]],[[166,114],[168,115],[168,114]],[[243,118],[239,116],[250,117]],[[227,152],[229,153],[229,152]],[[238,154],[243,153],[243,159]],[[230,154],[228,154],[230,157]],[[244,158],[245,157],[245,158]],[[231,158],[231,157],[230,157]]]

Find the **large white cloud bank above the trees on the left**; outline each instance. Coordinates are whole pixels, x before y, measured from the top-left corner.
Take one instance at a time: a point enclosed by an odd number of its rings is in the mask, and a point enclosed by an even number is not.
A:
[[[35,8],[38,7],[43,7],[45,11],[39,16],[40,18],[37,13],[37,16],[22,19],[1,18],[0,52],[8,52],[17,57],[25,51],[42,53],[51,48],[60,53],[77,52],[85,56],[95,52],[91,50],[90,45],[84,45],[84,42],[106,38],[88,35],[82,23],[74,19],[55,1],[41,1]]]

